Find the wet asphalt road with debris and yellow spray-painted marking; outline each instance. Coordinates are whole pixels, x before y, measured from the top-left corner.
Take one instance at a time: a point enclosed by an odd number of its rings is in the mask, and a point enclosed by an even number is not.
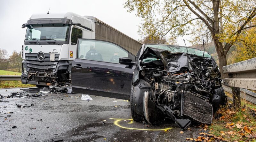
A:
[[[12,92],[22,91],[0,89],[0,94],[4,96]],[[202,132],[198,131],[200,128],[192,126],[189,131],[181,134],[181,129],[172,122],[146,127],[131,120],[130,102],[127,100],[90,95],[94,100],[82,101],[81,96],[82,94],[62,93],[36,98],[1,99],[10,102],[0,102],[0,141],[52,142],[51,139],[64,139],[67,142],[183,142],[186,138],[195,138],[198,132]],[[31,107],[16,106],[27,106],[32,103],[34,106]],[[12,114],[8,113],[11,111]],[[40,119],[42,121],[37,121]],[[13,126],[17,128],[12,128]],[[169,130],[161,130],[166,128]],[[156,129],[160,130],[151,131]]]

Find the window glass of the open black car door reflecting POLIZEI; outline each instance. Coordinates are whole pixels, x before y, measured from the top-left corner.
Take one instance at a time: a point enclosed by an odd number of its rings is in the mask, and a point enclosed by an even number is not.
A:
[[[120,57],[129,56],[131,55],[128,51],[111,42],[87,39],[79,40],[77,57],[80,59],[119,64]]]

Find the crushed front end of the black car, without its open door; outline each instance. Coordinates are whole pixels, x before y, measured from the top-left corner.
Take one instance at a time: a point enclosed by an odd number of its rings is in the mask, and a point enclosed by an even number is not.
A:
[[[133,119],[154,123],[169,118],[182,129],[193,122],[212,123],[213,112],[226,103],[214,59],[197,49],[153,47],[145,48],[134,71]]]

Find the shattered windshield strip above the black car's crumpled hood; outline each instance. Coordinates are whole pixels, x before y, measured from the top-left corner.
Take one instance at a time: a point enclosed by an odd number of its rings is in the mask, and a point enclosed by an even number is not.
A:
[[[187,47],[183,47],[183,46],[161,45],[161,44],[146,44],[145,45],[145,49],[147,49],[148,47],[168,50],[168,51],[170,51],[172,53],[182,52],[182,53],[194,54],[194,55],[197,55],[197,56],[203,56],[203,54],[204,54],[204,57],[208,57],[208,58],[211,57],[211,55],[208,54],[207,52],[201,51],[199,49],[189,48],[189,47],[188,47],[188,50],[187,50]]]

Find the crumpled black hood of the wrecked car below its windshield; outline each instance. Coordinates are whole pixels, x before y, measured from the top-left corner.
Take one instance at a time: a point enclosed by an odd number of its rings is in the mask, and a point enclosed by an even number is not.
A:
[[[164,70],[169,72],[180,71],[181,68],[187,67],[190,71],[200,73],[206,68],[217,68],[216,62],[212,58],[197,56],[194,54],[176,52],[148,47],[140,56],[139,60],[159,58],[164,64]]]

